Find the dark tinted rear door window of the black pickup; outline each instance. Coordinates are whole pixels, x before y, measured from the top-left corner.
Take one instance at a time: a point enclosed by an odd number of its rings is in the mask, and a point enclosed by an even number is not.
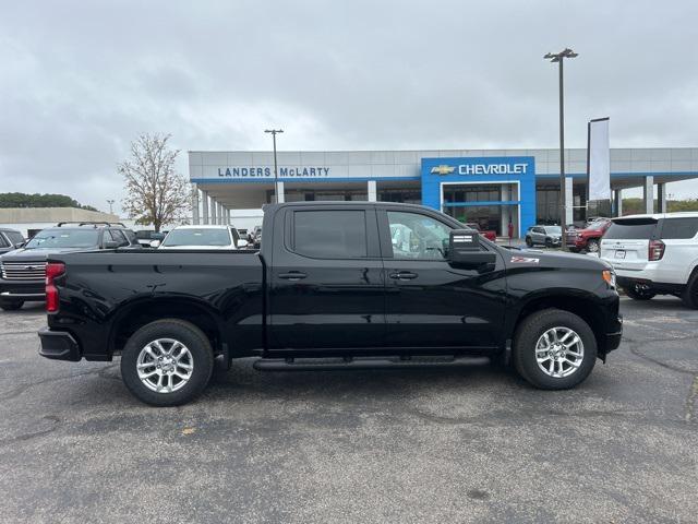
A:
[[[363,211],[297,211],[293,213],[293,250],[318,259],[366,257],[366,219]]]

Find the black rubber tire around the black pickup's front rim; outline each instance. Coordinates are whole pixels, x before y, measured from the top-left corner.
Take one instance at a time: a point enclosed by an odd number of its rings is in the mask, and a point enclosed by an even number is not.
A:
[[[553,327],[565,327],[574,331],[583,346],[581,362],[567,377],[551,377],[539,367],[537,361],[537,344],[543,334]],[[589,324],[576,314],[561,309],[544,309],[524,319],[514,335],[512,349],[514,366],[518,373],[527,382],[541,390],[567,390],[574,388],[589,377],[597,361],[597,340]],[[559,366],[559,369],[562,369],[562,366],[567,366],[567,369],[570,369],[569,364],[561,364]]]

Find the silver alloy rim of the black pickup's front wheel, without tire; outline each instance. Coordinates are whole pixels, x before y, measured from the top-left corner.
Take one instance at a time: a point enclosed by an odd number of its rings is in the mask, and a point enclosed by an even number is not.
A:
[[[538,367],[556,379],[569,377],[581,366],[585,345],[581,337],[569,327],[551,327],[535,344]]]

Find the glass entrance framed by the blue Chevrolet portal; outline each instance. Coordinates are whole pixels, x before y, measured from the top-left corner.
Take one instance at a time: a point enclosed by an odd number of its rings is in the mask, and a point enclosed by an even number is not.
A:
[[[443,182],[442,210],[464,224],[507,237],[509,222],[514,238],[519,231],[518,182]]]

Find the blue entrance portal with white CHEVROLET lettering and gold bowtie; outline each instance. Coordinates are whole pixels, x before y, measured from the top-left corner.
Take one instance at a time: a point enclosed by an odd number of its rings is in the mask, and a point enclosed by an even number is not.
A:
[[[503,202],[449,202],[448,206],[518,205],[519,230],[535,224],[535,163],[532,156],[422,158],[422,204],[444,211],[444,183],[516,183],[518,198]]]

